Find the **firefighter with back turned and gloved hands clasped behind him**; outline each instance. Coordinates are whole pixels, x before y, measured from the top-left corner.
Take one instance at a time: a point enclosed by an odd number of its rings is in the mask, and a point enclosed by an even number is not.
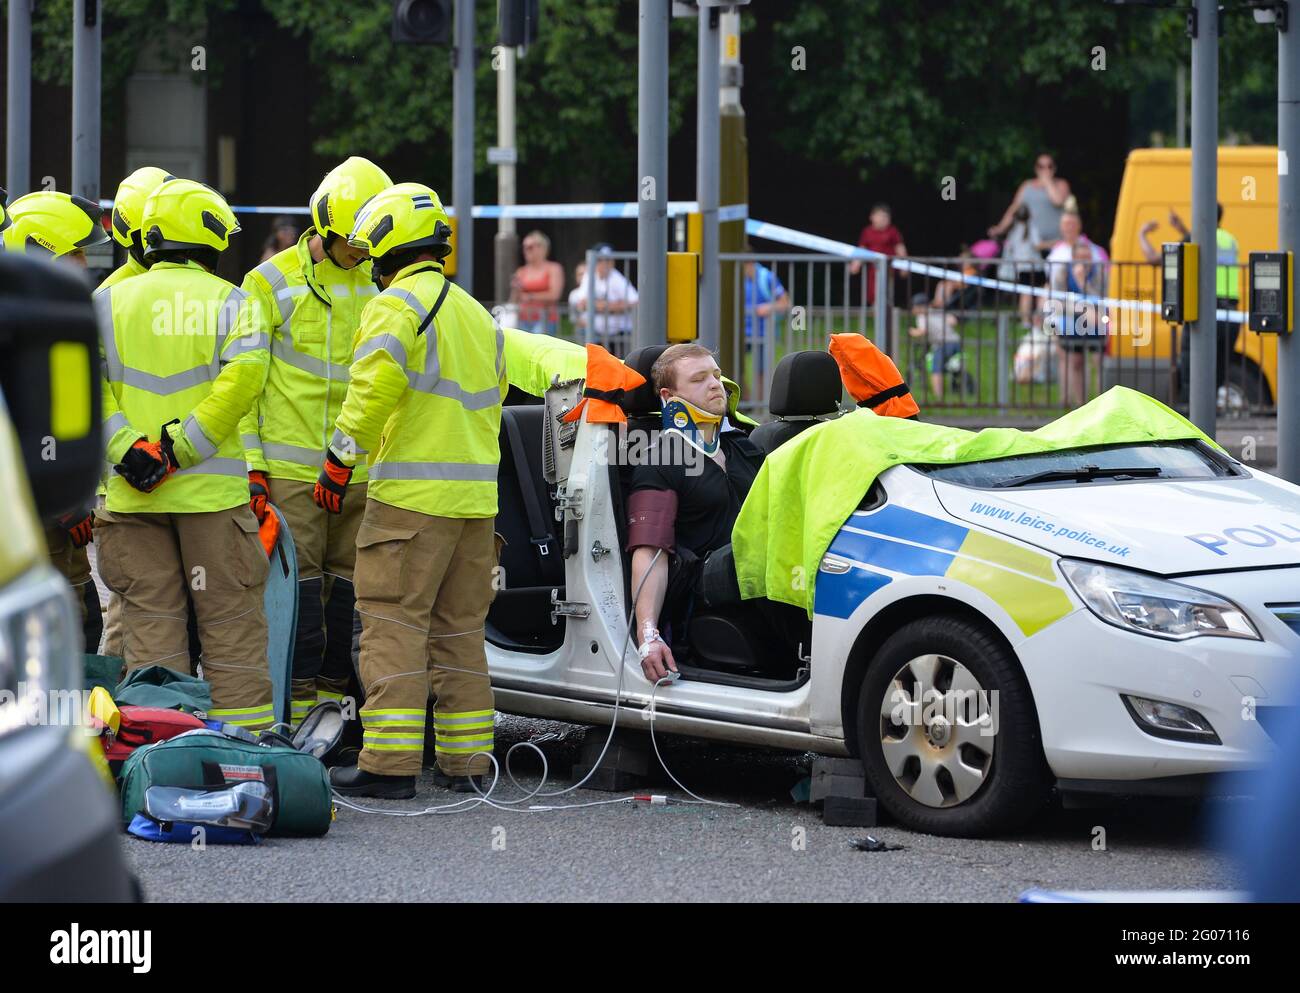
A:
[[[95,298],[104,435],[114,463],[96,512],[100,576],[122,598],[127,669],[187,672],[186,584],[203,643],[208,716],[274,723],[263,586],[239,420],[269,361],[263,315],[214,274],[239,230],[214,190],[170,179],[144,203],[147,273]]]

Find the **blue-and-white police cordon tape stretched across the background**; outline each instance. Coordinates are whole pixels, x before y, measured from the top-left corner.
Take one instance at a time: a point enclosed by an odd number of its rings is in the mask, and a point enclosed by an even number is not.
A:
[[[112,200],[100,200],[100,207],[105,211],[112,209]],[[309,214],[311,212],[306,207],[251,207],[251,205],[233,205],[230,208],[237,214],[251,213],[251,214]],[[480,220],[494,220],[500,217],[514,217],[519,220],[533,220],[533,221],[564,221],[564,220],[592,220],[592,218],[607,218],[607,220],[633,220],[637,217],[640,204],[636,201],[630,203],[586,203],[586,204],[511,204],[508,207],[500,207],[497,204],[478,204],[473,208],[472,216]],[[455,217],[456,211],[454,207],[446,207],[447,214]],[[696,200],[670,200],[668,201],[668,216],[677,217],[686,213],[698,213],[699,204]],[[1026,286],[1024,283],[1014,283],[1006,279],[992,279],[987,276],[970,276],[968,273],[962,273],[956,269],[944,269],[939,265],[928,265],[926,263],[918,263],[911,259],[896,259],[892,256],[884,256],[880,252],[872,252],[867,248],[859,248],[848,242],[837,242],[833,238],[823,238],[822,235],[809,234],[807,231],[800,231],[793,227],[784,227],[779,224],[768,224],[767,221],[757,221],[749,216],[749,204],[729,204],[727,207],[718,208],[718,221],[725,224],[728,221],[745,221],[745,234],[751,238],[762,238],[768,242],[780,242],[781,244],[789,244],[796,248],[807,248],[809,251],[822,252],[824,255],[838,255],[842,259],[861,259],[862,261],[879,261],[880,259],[889,259],[889,266],[897,269],[898,272],[911,272],[919,276],[930,276],[937,279],[953,279],[957,282],[966,283],[968,286],[983,286],[988,290],[998,290],[1002,292],[1026,294],[1030,296],[1039,296],[1045,300],[1052,300],[1053,303],[1060,303],[1062,305],[1069,304],[1071,307],[1083,304],[1102,308],[1115,308],[1115,309],[1128,309],[1136,313],[1158,313],[1160,305],[1152,303],[1150,300],[1121,300],[1114,296],[1096,296],[1092,294],[1076,294],[1076,292],[1060,292],[1049,290],[1045,286]],[[992,264],[993,260],[989,260]],[[1244,311],[1227,311],[1217,309],[1214,312],[1216,321],[1223,321],[1226,324],[1244,324],[1247,315]]]

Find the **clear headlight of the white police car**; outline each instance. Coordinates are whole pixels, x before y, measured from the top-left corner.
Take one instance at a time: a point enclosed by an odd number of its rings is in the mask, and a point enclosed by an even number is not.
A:
[[[1061,572],[1088,610],[1117,628],[1170,641],[1202,634],[1262,641],[1240,607],[1195,586],[1076,559],[1061,559]]]

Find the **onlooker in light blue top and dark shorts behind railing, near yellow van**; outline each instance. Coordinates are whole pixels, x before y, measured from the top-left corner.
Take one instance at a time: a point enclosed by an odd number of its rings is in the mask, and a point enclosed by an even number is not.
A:
[[[1105,252],[1083,234],[1076,205],[1070,203],[1061,216],[1062,239],[1048,253],[1053,291],[1062,294],[1105,295]],[[1088,381],[1097,377],[1100,387],[1101,352],[1106,343],[1104,311],[1083,300],[1045,302],[1049,331],[1057,335],[1061,361],[1061,389],[1069,407],[1087,399]]]

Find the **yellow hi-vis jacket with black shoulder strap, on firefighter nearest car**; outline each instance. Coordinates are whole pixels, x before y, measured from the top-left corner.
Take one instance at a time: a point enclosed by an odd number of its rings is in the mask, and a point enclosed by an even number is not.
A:
[[[493,316],[441,265],[415,263],[361,313],[330,448],[348,465],[369,452],[367,495],[380,503],[494,517],[507,389],[504,338]]]

